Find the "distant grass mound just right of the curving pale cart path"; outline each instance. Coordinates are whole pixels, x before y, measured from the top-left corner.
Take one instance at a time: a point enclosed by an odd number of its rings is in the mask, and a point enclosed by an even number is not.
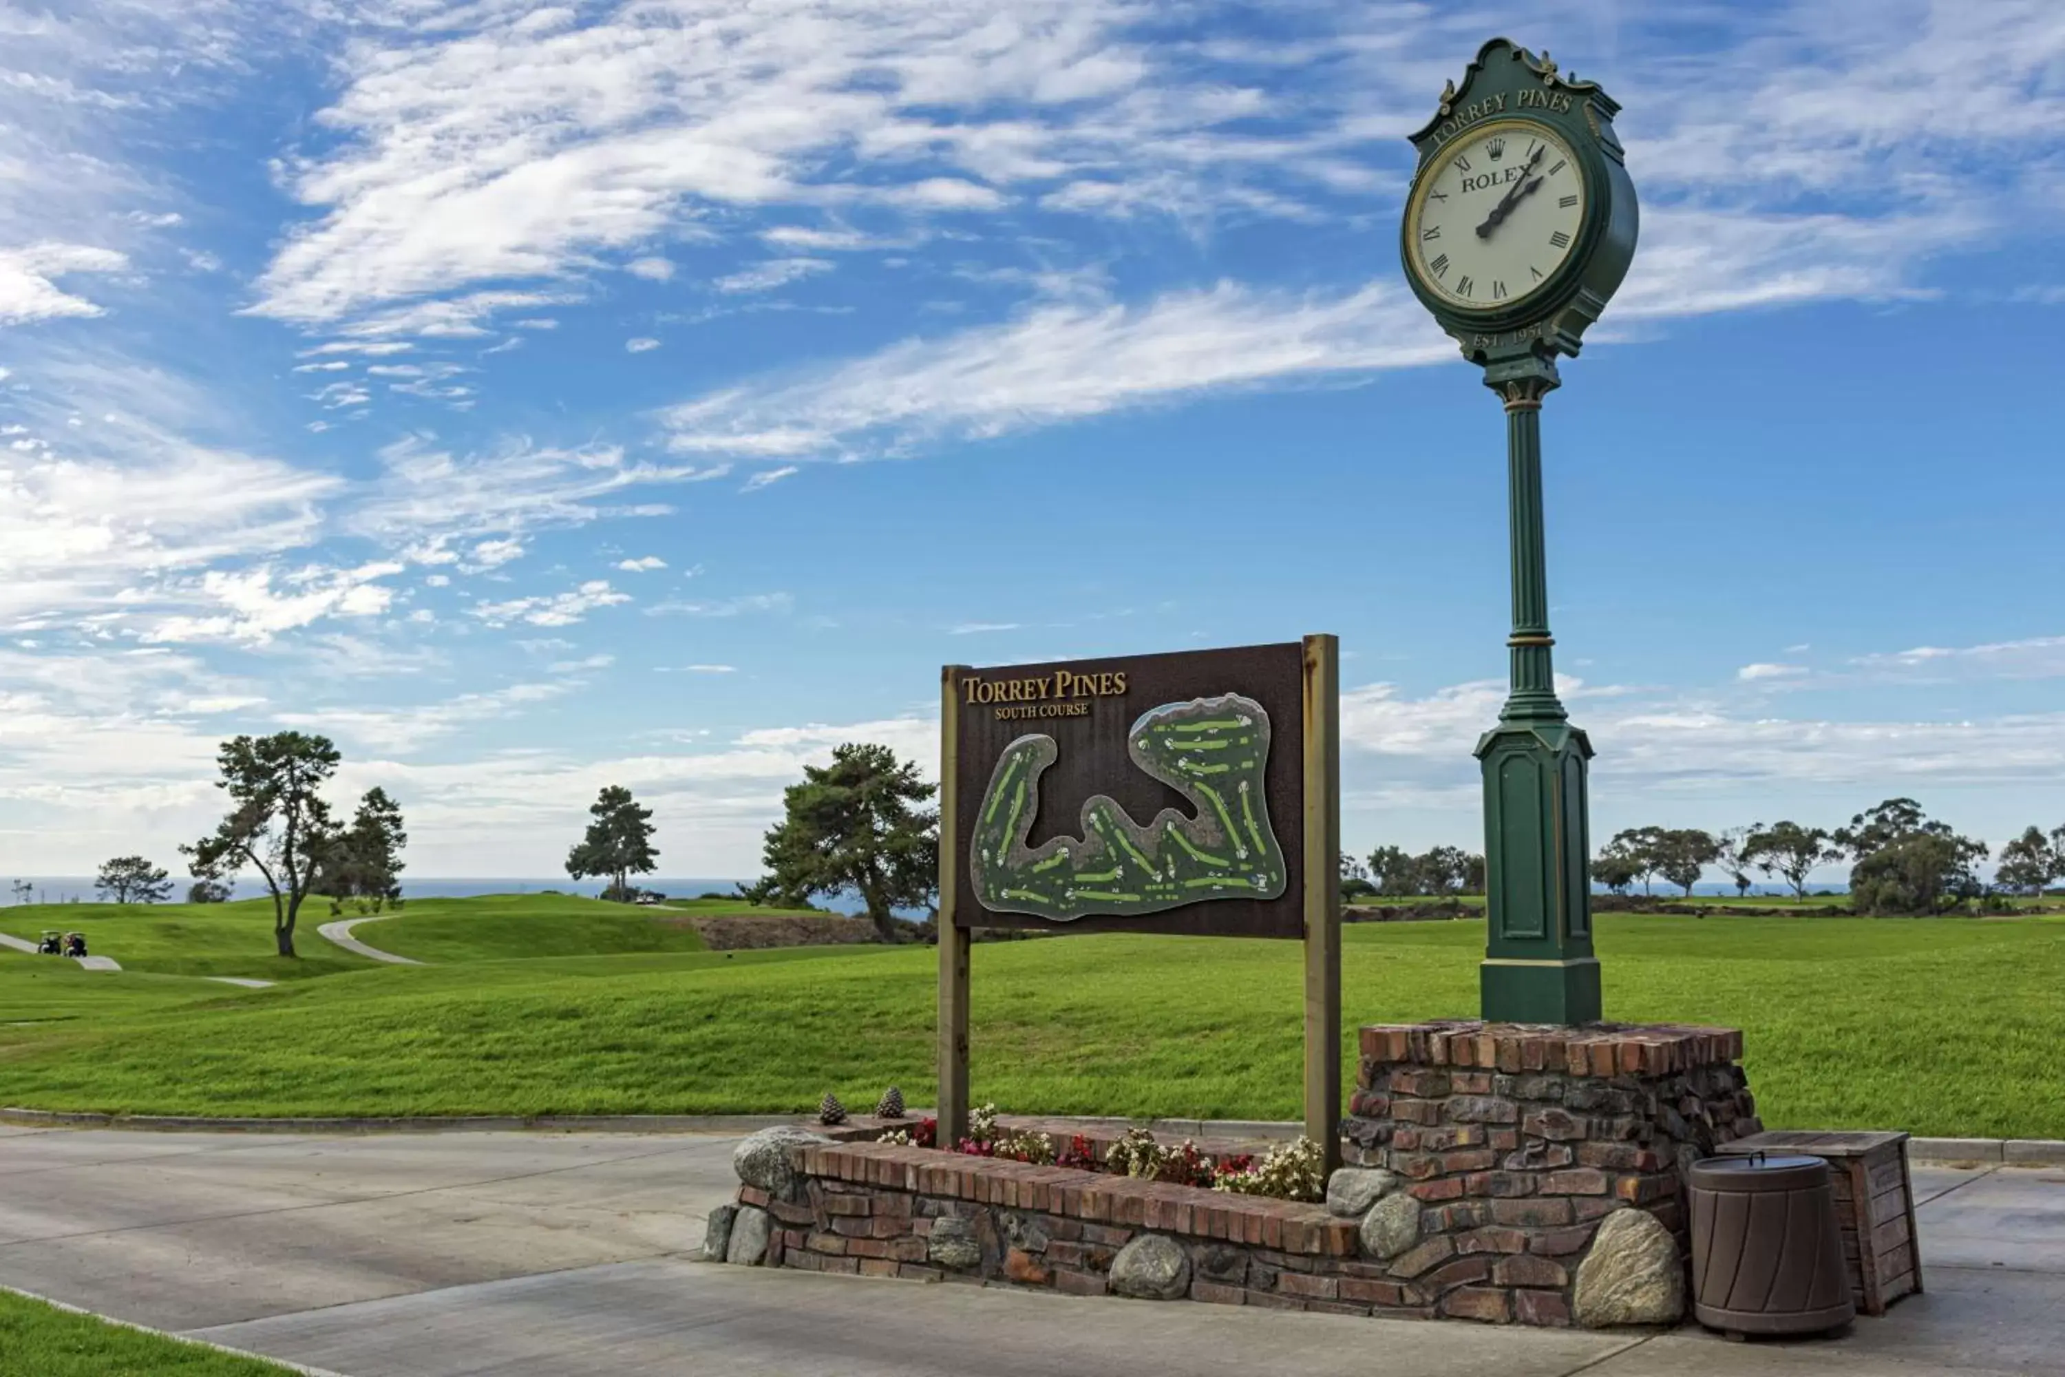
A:
[[[353,935],[382,952],[423,962],[700,952],[702,937],[688,923],[692,917],[787,912],[735,898],[638,908],[572,894],[491,894],[409,900],[401,915],[372,919]]]

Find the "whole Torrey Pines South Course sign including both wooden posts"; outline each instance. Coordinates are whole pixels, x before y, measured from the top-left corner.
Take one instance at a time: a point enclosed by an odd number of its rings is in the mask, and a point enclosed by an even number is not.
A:
[[[940,673],[940,1142],[979,927],[1305,941],[1305,1135],[1340,1158],[1340,667],[1303,642]]]

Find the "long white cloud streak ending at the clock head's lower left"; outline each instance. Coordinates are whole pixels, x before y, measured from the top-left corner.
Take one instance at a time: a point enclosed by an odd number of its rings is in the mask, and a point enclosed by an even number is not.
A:
[[[1204,388],[1446,361],[1454,349],[1402,287],[1286,295],[1220,283],[1144,306],[1037,306],[1004,324],[717,392],[663,419],[681,452],[896,454]]]

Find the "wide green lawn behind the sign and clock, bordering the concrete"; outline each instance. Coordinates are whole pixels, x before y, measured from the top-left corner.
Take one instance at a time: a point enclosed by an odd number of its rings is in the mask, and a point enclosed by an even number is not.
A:
[[[1357,925],[1342,946],[1351,1038],[1476,1007],[1476,923]],[[2065,923],[1607,915],[1598,946],[1609,1018],[1745,1028],[1772,1127],[2065,1138]],[[31,960],[0,964],[0,981]],[[979,1098],[1299,1113],[1295,943],[1101,935],[983,943],[973,960]],[[863,1104],[892,1082],[921,1102],[933,1088],[925,948],[539,958],[223,991],[0,1026],[0,1102],[725,1113],[803,1111],[824,1090]],[[0,1001],[10,993],[0,983]]]

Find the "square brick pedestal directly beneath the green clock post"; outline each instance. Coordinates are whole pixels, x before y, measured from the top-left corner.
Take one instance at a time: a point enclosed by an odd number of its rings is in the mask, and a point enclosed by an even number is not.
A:
[[[1392,1272],[1443,1315],[1569,1323],[1598,1220],[1646,1210],[1687,1253],[1681,1168],[1764,1127],[1733,1028],[1394,1024],[1361,1053],[1348,1160],[1412,1183]]]

